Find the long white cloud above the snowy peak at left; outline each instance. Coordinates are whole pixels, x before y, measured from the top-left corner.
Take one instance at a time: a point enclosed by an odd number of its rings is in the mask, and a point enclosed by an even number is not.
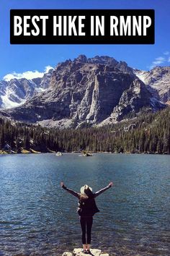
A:
[[[31,80],[33,78],[37,78],[37,77],[43,77],[43,75],[45,73],[48,73],[48,71],[50,69],[53,69],[53,67],[51,66],[47,66],[45,67],[45,70],[44,72],[39,72],[37,70],[34,70],[34,71],[26,71],[26,72],[23,72],[23,73],[17,73],[17,72],[12,72],[12,74],[6,74],[4,77],[3,77],[3,80],[5,81],[10,81],[14,78],[17,78],[17,79],[21,79],[21,78],[26,78],[27,80]]]

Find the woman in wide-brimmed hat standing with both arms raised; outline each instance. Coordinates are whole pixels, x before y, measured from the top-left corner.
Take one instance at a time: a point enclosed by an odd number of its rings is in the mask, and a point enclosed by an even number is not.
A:
[[[77,212],[79,213],[80,223],[81,223],[81,231],[82,231],[82,244],[83,244],[83,252],[89,254],[90,253],[90,244],[91,244],[91,226],[93,223],[93,216],[95,213],[99,212],[97,208],[96,202],[94,200],[95,197],[101,195],[102,192],[112,187],[113,183],[110,182],[107,187],[93,193],[91,187],[88,185],[84,185],[80,189],[80,193],[73,191],[72,189],[68,189],[63,182],[61,182],[61,187],[66,189],[71,195],[74,195],[79,199],[79,208]]]

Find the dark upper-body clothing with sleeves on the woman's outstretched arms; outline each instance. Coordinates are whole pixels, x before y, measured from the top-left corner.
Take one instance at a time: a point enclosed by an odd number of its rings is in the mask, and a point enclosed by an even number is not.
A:
[[[86,189],[86,195],[89,197],[88,199],[80,200],[80,194],[73,191],[72,189],[68,189],[67,187],[63,186],[63,189],[66,189],[71,195],[74,195],[75,197],[79,198],[79,208],[77,209],[77,213],[79,213],[79,216],[94,216],[95,213],[99,212],[99,209],[97,208],[96,202],[94,200],[95,197],[102,194],[105,190],[109,189],[111,186],[104,187],[103,189],[100,189],[99,191],[92,193],[91,190],[88,188]]]

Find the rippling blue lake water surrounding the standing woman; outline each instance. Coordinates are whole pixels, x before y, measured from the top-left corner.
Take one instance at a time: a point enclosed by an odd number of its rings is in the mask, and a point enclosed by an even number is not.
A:
[[[0,156],[0,255],[62,255],[81,247],[77,199],[97,191],[91,247],[109,255],[169,255],[169,155]]]

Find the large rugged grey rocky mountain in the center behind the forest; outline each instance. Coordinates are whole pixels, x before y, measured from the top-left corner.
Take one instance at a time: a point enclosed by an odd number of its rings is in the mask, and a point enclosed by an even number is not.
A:
[[[148,76],[151,79],[151,74]],[[59,63],[48,81],[33,80],[33,88],[45,90],[27,90],[22,106],[4,109],[1,115],[47,127],[79,128],[116,123],[135,116],[142,108],[164,108],[164,101],[159,101],[141,77],[142,73],[125,61],[80,55]]]

